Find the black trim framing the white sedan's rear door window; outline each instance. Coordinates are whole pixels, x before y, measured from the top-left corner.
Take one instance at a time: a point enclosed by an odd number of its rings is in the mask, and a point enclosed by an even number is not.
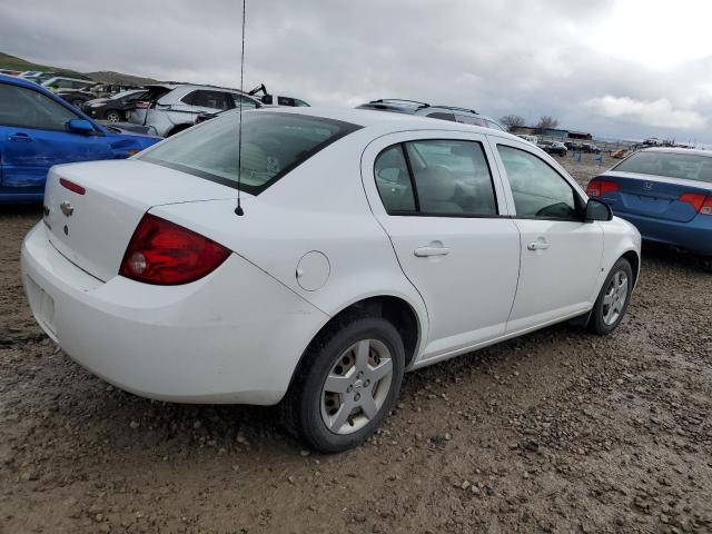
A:
[[[406,145],[408,142],[417,142],[417,141],[462,141],[462,142],[474,142],[479,145],[479,148],[482,150],[482,156],[485,160],[485,164],[487,166],[487,171],[490,172],[490,185],[492,187],[492,196],[494,199],[494,205],[495,205],[495,214],[493,215],[486,215],[486,214],[438,214],[438,212],[423,212],[421,211],[421,202],[419,202],[419,198],[418,198],[418,190],[415,184],[415,176],[413,172],[413,167],[412,167],[412,162],[411,162],[411,156],[409,156],[409,150],[407,149]],[[378,161],[378,158],[380,157],[382,154],[384,154],[386,150],[395,147],[395,146],[399,146],[400,151],[405,158],[406,161],[406,167],[408,170],[408,178],[411,181],[411,188],[413,190],[413,197],[414,197],[414,202],[415,202],[415,211],[411,211],[411,210],[389,210],[386,205],[383,201],[383,198],[380,197],[380,192],[378,191],[378,187],[376,185],[376,190],[378,192],[378,198],[380,199],[380,202],[384,207],[385,212],[388,216],[392,217],[449,217],[449,218],[465,218],[465,219],[498,219],[498,218],[511,218],[511,215],[507,214],[503,214],[502,212],[502,205],[503,205],[503,200],[498,197],[498,191],[497,191],[497,187],[495,184],[495,176],[493,172],[493,166],[492,162],[490,161],[490,158],[493,156],[490,156],[487,152],[487,148],[491,148],[490,144],[487,142],[486,138],[482,138],[482,139],[463,139],[463,138],[441,138],[441,137],[432,137],[432,138],[422,138],[422,139],[409,139],[409,140],[403,140],[403,141],[398,141],[398,142],[394,142],[392,145],[388,145],[386,147],[384,147],[383,149],[380,149],[378,151],[378,154],[376,155],[376,157],[374,158],[374,169],[373,169],[373,178],[374,178],[374,184],[375,184],[375,179],[376,179],[376,169],[375,169],[375,164],[376,161]],[[502,180],[501,177],[501,172],[498,172],[498,178],[500,180]],[[503,190],[504,190],[504,185],[502,185]],[[508,187],[508,186],[507,186]],[[504,202],[506,204],[506,202]]]

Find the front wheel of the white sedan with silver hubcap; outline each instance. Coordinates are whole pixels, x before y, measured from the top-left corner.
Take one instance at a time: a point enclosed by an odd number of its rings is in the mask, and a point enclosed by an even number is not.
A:
[[[601,288],[591,316],[591,329],[610,334],[625,315],[633,290],[633,269],[627,259],[619,259]]]

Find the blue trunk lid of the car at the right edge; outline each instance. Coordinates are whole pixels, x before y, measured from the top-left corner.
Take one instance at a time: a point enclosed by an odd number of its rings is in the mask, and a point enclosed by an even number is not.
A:
[[[606,194],[606,201],[614,211],[678,222],[688,222],[696,216],[690,202],[680,201],[681,196],[712,195],[712,185],[698,180],[616,171],[607,171],[599,178],[619,185],[616,192]]]

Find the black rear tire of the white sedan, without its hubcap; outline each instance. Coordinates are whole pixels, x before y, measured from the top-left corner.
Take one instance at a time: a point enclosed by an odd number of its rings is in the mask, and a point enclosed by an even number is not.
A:
[[[393,374],[390,387],[376,415],[350,434],[330,431],[322,416],[323,388],[327,376],[343,353],[363,339],[375,339],[390,353]],[[307,348],[281,403],[285,426],[307,446],[337,453],[362,444],[376,431],[398,397],[405,368],[405,349],[396,328],[380,317],[350,316],[320,333]]]

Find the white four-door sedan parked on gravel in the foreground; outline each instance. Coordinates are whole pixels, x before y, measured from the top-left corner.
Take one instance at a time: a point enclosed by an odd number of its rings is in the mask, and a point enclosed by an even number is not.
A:
[[[567,319],[621,323],[640,234],[528,142],[273,108],[241,113],[238,157],[239,115],[50,171],[27,296],[116,386],[280,403],[288,428],[337,452],[378,428],[405,370]]]

